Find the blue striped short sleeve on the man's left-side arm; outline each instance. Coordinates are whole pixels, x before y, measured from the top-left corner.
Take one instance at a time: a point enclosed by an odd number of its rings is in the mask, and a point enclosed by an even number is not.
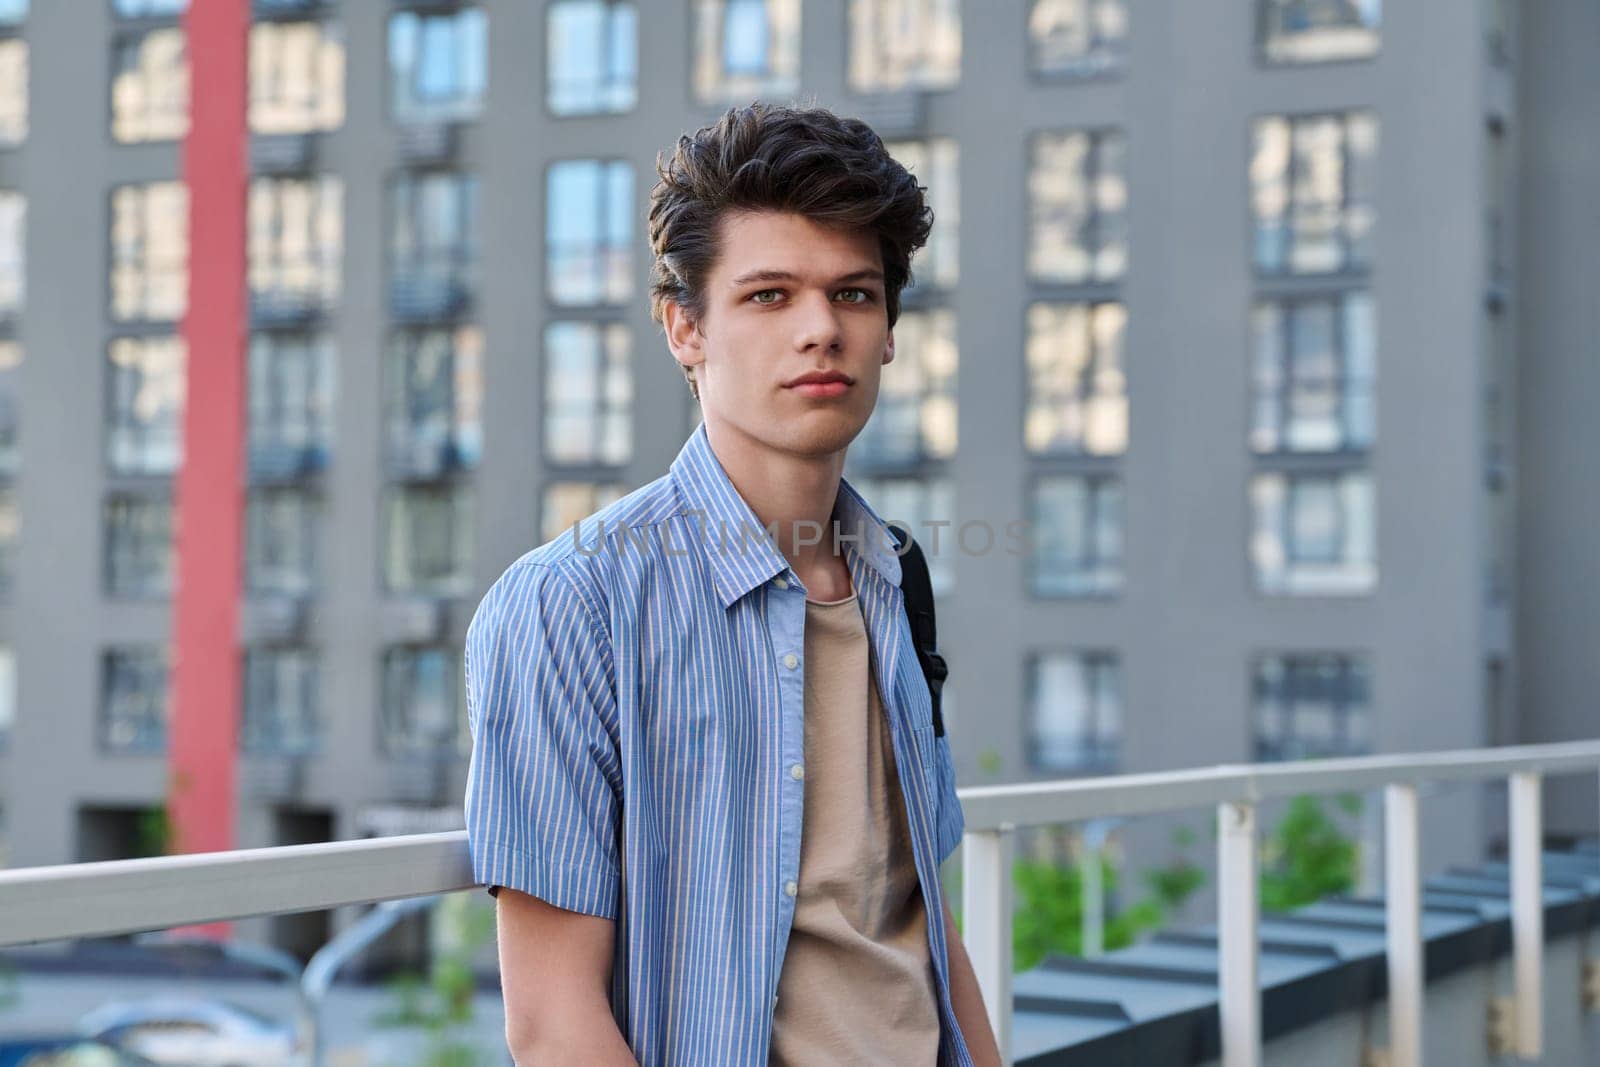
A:
[[[474,877],[618,915],[621,773],[610,643],[571,579],[517,563],[467,627]]]

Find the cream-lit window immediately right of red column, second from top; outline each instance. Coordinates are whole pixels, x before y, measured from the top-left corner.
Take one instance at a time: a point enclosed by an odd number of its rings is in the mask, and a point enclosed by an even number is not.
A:
[[[344,261],[344,181],[250,182],[250,296],[258,315],[333,307]]]

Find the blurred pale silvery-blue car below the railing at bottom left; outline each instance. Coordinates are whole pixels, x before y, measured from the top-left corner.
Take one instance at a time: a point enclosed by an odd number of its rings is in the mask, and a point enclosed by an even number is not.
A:
[[[150,997],[101,1005],[78,1032],[158,1067],[293,1067],[306,1062],[294,1029],[226,1000]]]

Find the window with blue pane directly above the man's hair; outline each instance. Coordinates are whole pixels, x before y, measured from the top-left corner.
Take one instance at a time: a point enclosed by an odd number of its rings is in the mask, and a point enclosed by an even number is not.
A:
[[[694,0],[701,104],[781,99],[800,90],[800,0]]]

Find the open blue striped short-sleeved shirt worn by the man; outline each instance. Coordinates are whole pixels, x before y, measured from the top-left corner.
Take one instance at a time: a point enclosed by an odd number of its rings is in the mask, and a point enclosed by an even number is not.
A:
[[[834,518],[928,909],[939,1062],[970,1064],[939,886],[955,769],[888,530],[848,482]],[[701,426],[669,474],[512,563],[467,629],[474,873],[616,920],[611,1005],[643,1067],[766,1062],[800,877],[805,597]]]

